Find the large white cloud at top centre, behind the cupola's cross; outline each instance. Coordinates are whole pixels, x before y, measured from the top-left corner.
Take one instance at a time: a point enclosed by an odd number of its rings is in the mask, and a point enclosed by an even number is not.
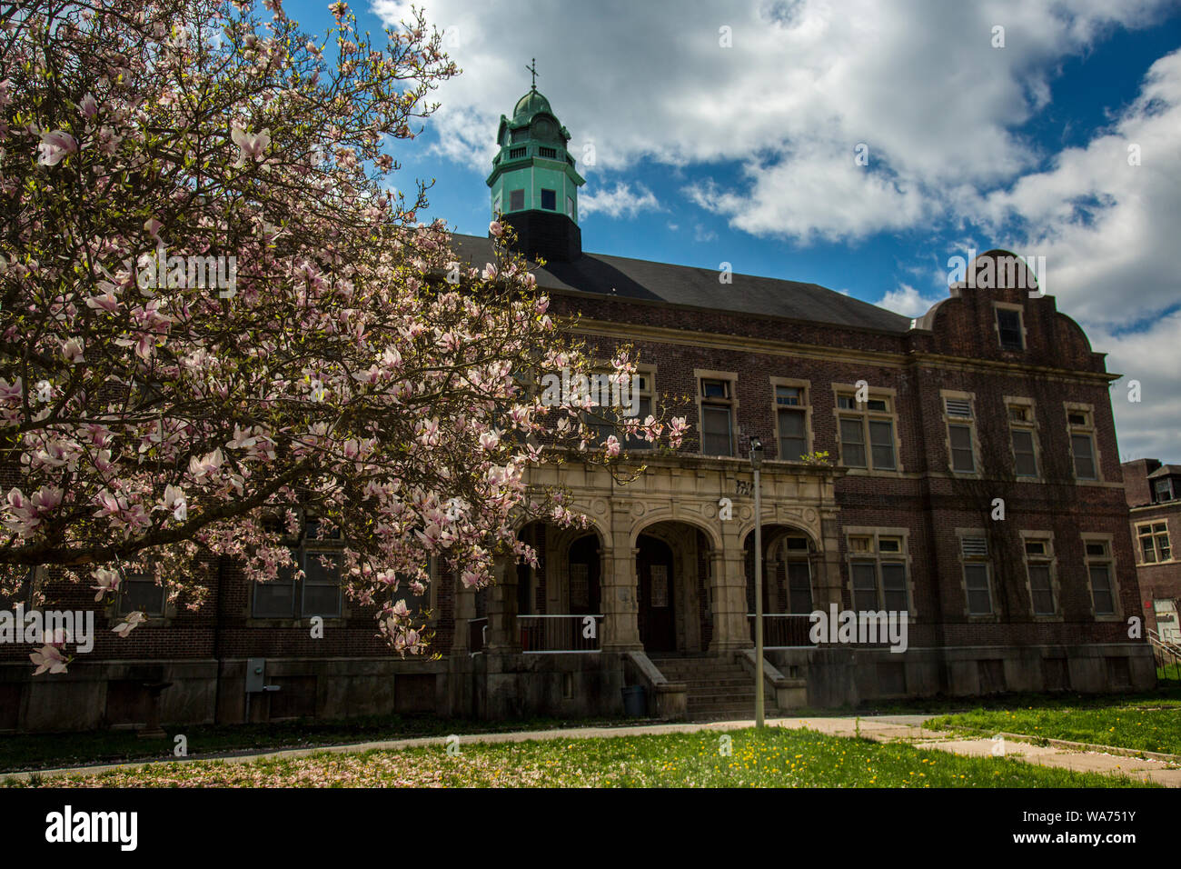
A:
[[[736,227],[861,238],[939,215],[957,187],[1037,166],[1042,155],[1013,130],[1050,98],[1062,61],[1104,28],[1150,22],[1166,2],[536,0],[508,26],[494,4],[424,0],[466,71],[438,89],[429,123],[442,153],[487,170],[500,115],[528,90],[536,56],[539,90],[588,179],[641,158],[737,161],[733,189],[698,190]],[[409,4],[373,9],[396,21]],[[1004,48],[991,44],[998,24]],[[719,45],[722,26],[732,47]],[[859,143],[868,167],[853,161]]]

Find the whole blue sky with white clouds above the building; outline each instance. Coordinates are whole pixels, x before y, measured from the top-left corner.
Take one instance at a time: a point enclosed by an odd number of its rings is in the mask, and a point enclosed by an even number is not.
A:
[[[1181,461],[1176,2],[422,6],[464,70],[393,150],[404,187],[436,180],[430,218],[487,231],[496,122],[536,57],[572,153],[595,150],[579,163],[583,249],[727,261],[906,316],[946,297],[947,260],[970,248],[1045,257],[1059,310],[1125,375],[1121,458]],[[285,8],[308,30],[331,20],[326,4]],[[409,14],[353,8],[374,32]]]

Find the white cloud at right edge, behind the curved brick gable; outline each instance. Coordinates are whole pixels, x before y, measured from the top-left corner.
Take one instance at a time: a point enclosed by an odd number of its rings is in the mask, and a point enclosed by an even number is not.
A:
[[[1121,452],[1163,461],[1181,460],[1179,138],[1181,51],[1153,64],[1109,130],[980,205],[998,232],[1012,218],[1035,227],[1003,246],[1045,257],[1046,292],[1124,375],[1111,395]],[[1128,164],[1129,144],[1140,166]],[[1138,404],[1127,400],[1129,380],[1141,382]]]

